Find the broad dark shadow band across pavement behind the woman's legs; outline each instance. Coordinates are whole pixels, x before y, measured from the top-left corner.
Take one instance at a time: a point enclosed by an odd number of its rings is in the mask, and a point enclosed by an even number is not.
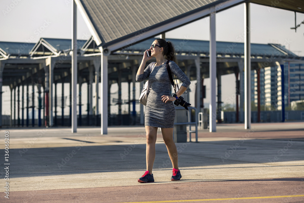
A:
[[[18,177],[29,177],[66,173],[144,171],[146,169],[145,144],[85,145],[84,143],[82,146],[75,145],[75,147],[30,148],[24,153],[23,149],[11,149],[10,174]],[[179,167],[182,169],[212,169],[210,166],[216,166],[214,168],[217,169],[220,169],[221,166],[230,168],[227,165],[242,163],[268,163],[265,167],[282,167],[284,165],[278,162],[304,160],[304,143],[292,140],[228,140],[177,143],[176,146]],[[242,148],[242,150],[237,150],[238,148]],[[240,168],[242,167],[240,166]],[[157,143],[153,170],[171,168],[165,144]],[[231,168],[237,167],[233,165]],[[5,171],[2,169],[0,173],[4,175]],[[302,181],[300,179],[293,180]]]

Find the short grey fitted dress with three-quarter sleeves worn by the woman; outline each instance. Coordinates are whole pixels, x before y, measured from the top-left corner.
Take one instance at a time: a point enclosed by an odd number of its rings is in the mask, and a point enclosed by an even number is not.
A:
[[[156,66],[155,62],[150,63],[145,68],[143,74],[136,75],[136,81],[142,82],[149,78],[151,89],[147,100],[145,113],[145,126],[158,128],[173,128],[175,120],[175,108],[173,102],[164,103],[161,96],[170,95],[171,82],[167,71],[166,63]],[[169,62],[172,75],[183,83],[181,86],[188,88],[190,80],[174,61]],[[152,72],[151,72],[152,70]]]

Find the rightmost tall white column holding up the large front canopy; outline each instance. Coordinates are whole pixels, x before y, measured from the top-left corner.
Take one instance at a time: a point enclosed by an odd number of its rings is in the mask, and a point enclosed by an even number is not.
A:
[[[250,4],[244,4],[244,77],[245,77],[245,129],[251,128],[251,87],[250,87]]]

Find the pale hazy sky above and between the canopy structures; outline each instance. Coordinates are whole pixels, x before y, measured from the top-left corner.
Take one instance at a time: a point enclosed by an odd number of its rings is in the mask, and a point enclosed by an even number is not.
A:
[[[1,0],[0,41],[36,43],[41,37],[68,38],[72,35],[72,0]],[[304,20],[297,13],[296,24]],[[295,14],[291,11],[250,4],[251,43],[282,44],[299,56],[304,56],[304,24],[297,32]],[[88,27],[78,12],[78,39],[91,37]],[[166,38],[209,40],[209,17],[166,33]],[[244,4],[216,14],[216,40],[244,42]],[[209,80],[204,80],[209,103]],[[222,100],[234,104],[234,74],[222,76]],[[60,88],[58,88],[60,89]],[[7,93],[7,90],[3,89]],[[6,94],[5,93],[5,94]],[[3,95],[9,98],[9,95]],[[2,108],[3,110],[4,108]]]

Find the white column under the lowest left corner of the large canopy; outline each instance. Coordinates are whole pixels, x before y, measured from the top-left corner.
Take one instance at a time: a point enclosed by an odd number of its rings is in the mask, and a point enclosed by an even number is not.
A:
[[[101,134],[108,134],[108,56],[101,51],[101,100],[100,100],[100,120]]]

